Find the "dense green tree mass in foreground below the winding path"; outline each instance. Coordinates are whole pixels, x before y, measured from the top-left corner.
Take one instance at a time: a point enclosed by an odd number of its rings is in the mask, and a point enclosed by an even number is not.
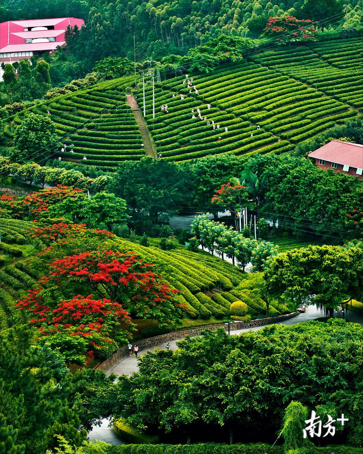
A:
[[[299,399],[322,419],[328,408],[334,419],[349,414],[349,428],[337,430],[360,446],[362,333],[362,326],[340,319],[273,325],[240,336],[204,331],[178,342],[176,351],[147,352],[138,371],[120,377],[106,399],[132,427],[171,433],[180,443],[190,434],[194,441],[198,434],[206,439],[216,426],[223,437],[245,441],[246,434],[260,437],[263,425],[273,439],[287,404]],[[294,431],[296,419],[286,437]]]

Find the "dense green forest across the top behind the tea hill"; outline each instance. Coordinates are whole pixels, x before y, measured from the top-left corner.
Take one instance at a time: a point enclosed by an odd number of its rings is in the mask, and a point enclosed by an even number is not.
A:
[[[1,21],[74,16],[84,19],[81,30],[68,30],[67,48],[56,52],[50,64],[53,86],[69,83],[90,72],[95,62],[109,56],[173,62],[190,48],[203,46],[211,38],[232,35],[267,40],[264,30],[271,16],[288,14],[316,22],[327,37],[362,27],[362,0],[347,5],[339,0],[5,0]],[[135,43],[135,49],[134,49]]]

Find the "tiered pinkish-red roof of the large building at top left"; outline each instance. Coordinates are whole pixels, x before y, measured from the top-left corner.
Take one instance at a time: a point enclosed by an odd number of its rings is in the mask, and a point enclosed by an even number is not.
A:
[[[8,20],[0,24],[0,52],[19,52],[33,50],[52,50],[57,45],[64,44],[64,32],[68,25],[80,29],[84,25],[83,19],[74,17],[60,17],[57,19],[35,19],[35,20]],[[40,26],[54,26],[54,30],[25,31],[25,28]],[[42,47],[37,47],[40,43],[25,44],[25,39],[31,38],[55,38],[55,43],[41,43]],[[24,48],[24,44],[27,46]],[[46,46],[44,47],[44,44]],[[18,46],[22,47],[19,48]],[[9,47],[11,46],[11,47]]]

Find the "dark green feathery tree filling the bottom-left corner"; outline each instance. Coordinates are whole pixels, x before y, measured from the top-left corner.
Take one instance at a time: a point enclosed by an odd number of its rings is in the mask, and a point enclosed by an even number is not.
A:
[[[54,431],[76,446],[87,436],[67,404],[67,382],[56,383],[33,336],[25,326],[0,333],[1,454],[44,454]]]

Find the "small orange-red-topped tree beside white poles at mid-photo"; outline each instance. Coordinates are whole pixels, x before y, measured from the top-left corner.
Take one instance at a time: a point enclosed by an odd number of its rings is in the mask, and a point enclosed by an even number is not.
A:
[[[237,228],[236,214],[248,205],[247,188],[240,184],[237,178],[231,178],[228,183],[222,184],[221,188],[216,191],[211,203],[230,210],[232,216],[235,217],[235,226]]]

